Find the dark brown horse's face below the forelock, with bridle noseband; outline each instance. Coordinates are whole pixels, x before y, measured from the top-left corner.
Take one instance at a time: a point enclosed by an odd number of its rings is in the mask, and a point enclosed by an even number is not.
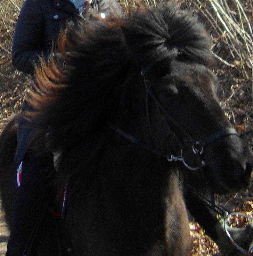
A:
[[[215,93],[218,81],[211,70],[173,60],[162,78],[154,79],[152,73],[147,77],[155,101],[162,106],[161,114],[179,141],[178,149],[174,146],[167,150],[181,150],[186,166],[193,167],[188,169],[194,169],[190,172],[198,170],[197,175],[208,181],[216,193],[248,187],[252,151],[225,117]]]

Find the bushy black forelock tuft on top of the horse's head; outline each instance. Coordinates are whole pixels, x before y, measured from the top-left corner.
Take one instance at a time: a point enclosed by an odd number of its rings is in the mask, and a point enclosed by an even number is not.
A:
[[[197,18],[179,5],[135,10],[120,26],[130,54],[140,67],[154,67],[152,73],[168,73],[172,60],[210,65],[210,38]]]

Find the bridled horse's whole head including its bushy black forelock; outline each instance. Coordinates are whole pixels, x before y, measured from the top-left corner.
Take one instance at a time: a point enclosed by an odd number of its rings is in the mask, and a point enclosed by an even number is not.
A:
[[[156,151],[177,154],[186,165],[201,168],[202,174],[198,171],[197,175],[208,181],[216,193],[246,188],[253,154],[219,105],[219,84],[211,70],[210,38],[203,26],[176,6],[140,12],[120,26],[123,42],[136,60],[134,68],[139,72],[142,101],[145,99],[142,106],[146,110],[142,109],[142,113],[146,114],[139,117],[144,119],[142,127],[148,135],[142,136],[143,140],[150,145],[155,140],[159,148]],[[124,97],[134,98],[126,90]],[[168,132],[174,134],[174,140]]]

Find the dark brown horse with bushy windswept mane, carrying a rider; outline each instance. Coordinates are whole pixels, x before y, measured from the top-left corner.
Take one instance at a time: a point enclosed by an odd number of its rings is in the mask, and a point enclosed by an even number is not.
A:
[[[67,184],[75,254],[188,256],[184,174],[221,194],[246,187],[253,163],[219,106],[203,26],[177,6],[139,8],[80,21],[58,52],[36,71],[28,116],[55,155],[57,189]]]

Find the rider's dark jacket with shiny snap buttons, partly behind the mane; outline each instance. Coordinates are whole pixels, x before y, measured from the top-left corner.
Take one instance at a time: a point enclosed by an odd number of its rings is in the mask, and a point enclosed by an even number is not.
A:
[[[95,13],[122,16],[116,0],[92,0],[83,14],[90,19],[90,10]],[[28,74],[34,73],[34,63],[38,64],[39,55],[44,59],[50,56],[52,42],[60,28],[78,15],[74,5],[67,0],[26,0],[18,17],[13,39],[12,58],[16,69]],[[23,111],[29,106],[25,101]],[[31,111],[31,109],[30,109]],[[31,129],[22,115],[18,119],[17,151],[15,161],[19,164],[31,144]]]

